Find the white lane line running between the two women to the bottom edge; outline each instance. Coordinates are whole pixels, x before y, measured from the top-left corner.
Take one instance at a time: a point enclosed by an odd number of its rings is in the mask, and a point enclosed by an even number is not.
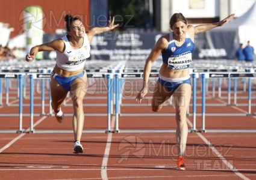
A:
[[[115,120],[115,117],[112,116],[112,118],[111,118],[111,131],[113,131],[113,128],[114,128],[114,122],[115,122],[114,120]],[[104,152],[104,158],[103,158],[102,164],[101,164],[101,178],[104,179],[104,180],[108,179],[107,165],[108,165],[108,157],[110,155],[112,134],[113,133],[108,133],[107,144],[106,144],[106,148],[105,148],[105,152]]]

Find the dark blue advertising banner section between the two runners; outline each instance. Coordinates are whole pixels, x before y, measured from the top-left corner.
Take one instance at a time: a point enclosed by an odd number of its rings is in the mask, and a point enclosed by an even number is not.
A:
[[[92,40],[90,59],[145,61],[161,35],[134,31],[97,35]]]

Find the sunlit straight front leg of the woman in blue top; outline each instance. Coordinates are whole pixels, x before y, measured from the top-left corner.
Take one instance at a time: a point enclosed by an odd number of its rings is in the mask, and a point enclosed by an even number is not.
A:
[[[176,145],[178,156],[184,156],[187,143],[187,109],[189,108],[191,98],[191,85],[184,83],[173,93],[173,101],[176,110]]]

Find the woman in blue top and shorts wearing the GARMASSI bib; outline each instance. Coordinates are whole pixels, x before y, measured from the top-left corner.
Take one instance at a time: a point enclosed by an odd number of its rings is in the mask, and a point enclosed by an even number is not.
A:
[[[189,67],[192,61],[195,34],[223,26],[233,19],[234,14],[217,23],[192,26],[187,24],[181,13],[175,13],[170,18],[170,33],[159,38],[148,58],[143,71],[143,88],[136,97],[140,103],[148,92],[148,80],[152,64],[160,54],[163,64],[159,71],[152,98],[152,110],[158,112],[164,103],[173,96],[176,110],[176,145],[178,149],[178,170],[185,170],[184,155],[187,143],[188,127],[186,122],[187,108],[189,107],[192,88],[190,85]]]

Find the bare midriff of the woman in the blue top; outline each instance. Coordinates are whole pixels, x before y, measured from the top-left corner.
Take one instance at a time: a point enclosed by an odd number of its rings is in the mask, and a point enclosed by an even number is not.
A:
[[[168,68],[167,64],[163,63],[163,65],[161,65],[159,73],[164,77],[181,78],[181,77],[189,76],[189,68],[181,69],[181,70],[172,70]]]

